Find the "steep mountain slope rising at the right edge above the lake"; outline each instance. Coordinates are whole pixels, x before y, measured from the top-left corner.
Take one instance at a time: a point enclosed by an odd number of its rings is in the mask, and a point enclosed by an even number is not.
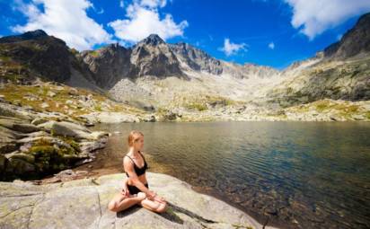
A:
[[[269,89],[269,101],[292,106],[322,99],[370,100],[370,13],[316,57],[282,72],[285,80]]]

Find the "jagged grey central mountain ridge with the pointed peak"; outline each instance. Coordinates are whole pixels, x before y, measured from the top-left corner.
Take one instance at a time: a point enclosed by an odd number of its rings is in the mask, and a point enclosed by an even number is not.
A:
[[[233,75],[235,78],[248,78],[251,75],[266,77],[278,73],[278,70],[267,66],[227,63],[184,42],[168,44],[156,34],[149,35],[131,48],[114,44],[83,51],[77,57],[89,67],[96,82],[105,89],[110,89],[119,79],[135,79],[145,75],[158,78],[177,76],[189,80],[191,72]]]

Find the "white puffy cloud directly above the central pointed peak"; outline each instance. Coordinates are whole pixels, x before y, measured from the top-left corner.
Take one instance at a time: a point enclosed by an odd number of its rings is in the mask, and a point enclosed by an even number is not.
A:
[[[128,19],[109,22],[108,25],[116,37],[131,43],[143,40],[151,33],[158,34],[163,40],[182,36],[188,22],[176,23],[168,13],[161,19],[158,8],[165,5],[165,0],[134,0],[126,9]]]

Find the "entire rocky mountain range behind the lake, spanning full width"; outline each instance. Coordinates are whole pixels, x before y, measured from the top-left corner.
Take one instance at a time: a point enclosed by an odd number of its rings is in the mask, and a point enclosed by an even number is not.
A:
[[[369,25],[366,13],[339,42],[282,71],[219,60],[184,42],[166,43],[156,34],[128,48],[116,43],[78,52],[45,31],[29,31],[0,39],[0,79],[41,77],[155,108],[364,101],[370,100]]]

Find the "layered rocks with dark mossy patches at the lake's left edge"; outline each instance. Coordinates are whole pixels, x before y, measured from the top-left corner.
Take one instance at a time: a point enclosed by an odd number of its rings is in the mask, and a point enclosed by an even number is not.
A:
[[[0,103],[0,179],[37,179],[91,162],[108,137],[63,114]]]

